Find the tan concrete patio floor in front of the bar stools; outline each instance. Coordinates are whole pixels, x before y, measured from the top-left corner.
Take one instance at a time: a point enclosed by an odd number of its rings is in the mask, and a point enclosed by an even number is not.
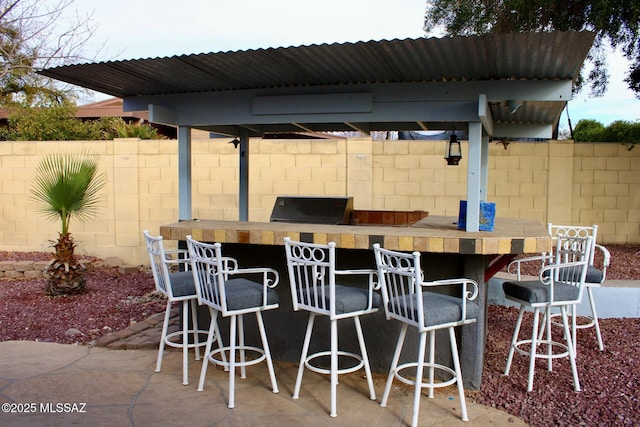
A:
[[[384,378],[376,376],[378,401],[368,398],[361,373],[343,375],[338,417],[329,411],[329,380],[306,371],[300,398],[291,398],[296,366],[276,363],[280,392],[271,391],[265,364],[236,380],[236,407],[227,408],[228,374],[210,365],[203,392],[196,386],[200,362],[190,360],[190,384],[181,384],[181,353],[110,350],[31,341],[0,343],[2,426],[403,426],[411,421],[412,393],[396,382],[386,408],[379,405]],[[471,392],[472,393],[472,392]],[[56,404],[63,404],[59,407]],[[66,405],[66,406],[65,406]],[[522,420],[467,399],[470,421],[460,420],[454,388],[423,393],[423,426],[524,426]],[[15,410],[16,412],[10,412]],[[27,412],[30,411],[30,412]]]

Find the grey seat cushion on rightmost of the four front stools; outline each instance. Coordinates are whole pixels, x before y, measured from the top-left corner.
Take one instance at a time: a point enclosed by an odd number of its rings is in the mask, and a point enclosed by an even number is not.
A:
[[[411,303],[410,299],[415,298],[416,294],[394,298],[389,301],[389,307],[400,307],[401,312],[405,311],[407,307],[415,308],[415,301],[413,304],[407,306],[407,304]],[[459,297],[443,295],[437,292],[423,291],[422,302],[424,308],[424,322],[426,326],[456,322],[462,318],[462,300]],[[397,309],[394,311],[397,311]],[[478,317],[479,313],[480,309],[478,308],[478,304],[475,301],[467,301],[466,318],[475,319]],[[414,319],[418,317],[415,310],[412,313],[412,316]]]

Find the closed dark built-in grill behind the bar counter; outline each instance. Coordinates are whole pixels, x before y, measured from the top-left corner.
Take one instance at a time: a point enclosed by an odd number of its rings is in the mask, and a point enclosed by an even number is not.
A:
[[[353,197],[279,196],[271,222],[306,224],[350,224]]]

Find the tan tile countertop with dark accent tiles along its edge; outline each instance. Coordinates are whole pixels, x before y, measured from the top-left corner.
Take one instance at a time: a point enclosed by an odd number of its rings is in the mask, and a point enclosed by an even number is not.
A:
[[[458,230],[457,219],[428,216],[409,226],[326,225],[249,221],[188,220],[160,227],[168,240],[196,240],[254,245],[283,245],[284,237],[313,243],[333,241],[338,248],[371,249],[374,243],[399,251],[464,255],[517,255],[548,252],[551,238],[537,221],[496,218],[492,232]]]

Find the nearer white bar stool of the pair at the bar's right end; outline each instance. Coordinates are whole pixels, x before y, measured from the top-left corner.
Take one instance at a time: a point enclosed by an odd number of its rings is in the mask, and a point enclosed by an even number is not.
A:
[[[575,336],[569,328],[568,309],[573,308],[582,300],[589,254],[592,248],[591,237],[557,236],[554,249],[554,260],[541,268],[537,280],[505,281],[502,284],[505,296],[520,304],[518,320],[513,332],[507,365],[504,371],[509,375],[513,355],[518,352],[529,356],[529,377],[527,391],[533,390],[533,376],[535,361],[538,358],[547,359],[547,369],[553,370],[553,359],[569,357],[573,385],[580,391],[580,381],[576,368]],[[518,340],[525,309],[533,309],[533,328],[531,338]],[[551,309],[560,309],[564,339],[566,344],[555,341],[552,336]],[[543,314],[543,328],[539,330],[540,314]],[[529,351],[521,348],[528,345]],[[546,353],[538,353],[539,346],[546,346]],[[560,349],[561,351],[555,351]]]

